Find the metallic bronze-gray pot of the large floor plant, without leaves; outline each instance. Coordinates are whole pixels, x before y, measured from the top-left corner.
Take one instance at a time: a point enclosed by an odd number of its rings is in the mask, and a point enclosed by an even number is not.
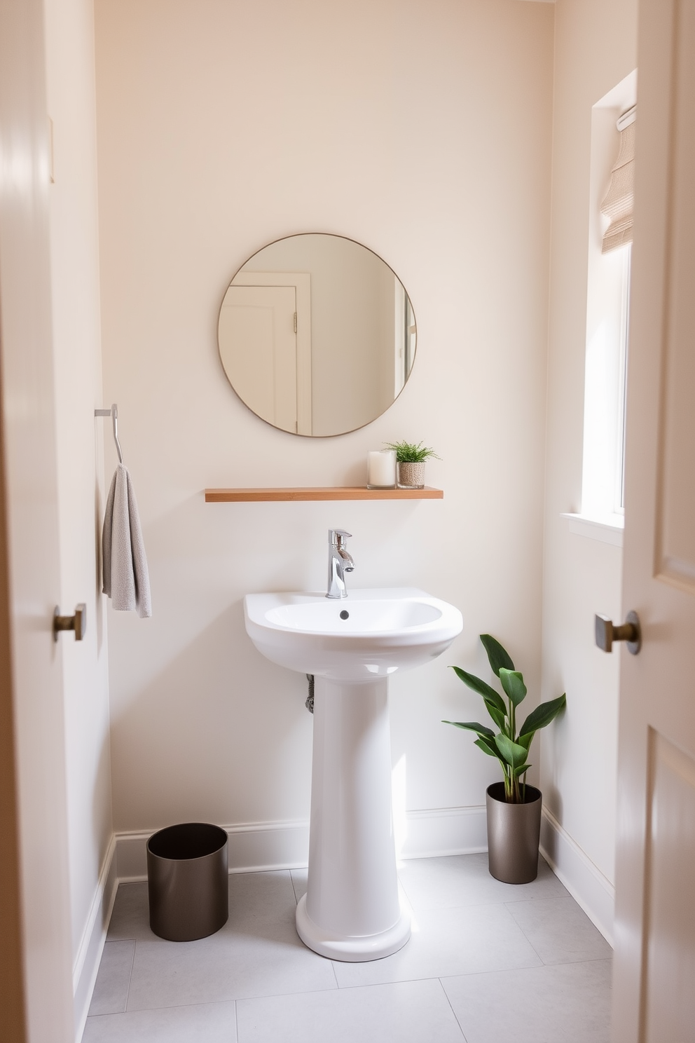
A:
[[[507,804],[504,783],[493,782],[486,792],[488,806],[488,867],[504,883],[530,883],[538,876],[543,797],[526,786],[524,804]]]

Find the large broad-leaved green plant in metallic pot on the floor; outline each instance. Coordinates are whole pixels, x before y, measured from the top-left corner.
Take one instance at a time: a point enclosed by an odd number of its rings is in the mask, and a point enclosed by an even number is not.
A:
[[[490,634],[480,634],[492,672],[499,678],[504,698],[490,684],[453,666],[464,684],[482,696],[497,731],[477,721],[443,721],[477,735],[475,746],[497,757],[504,777],[486,793],[488,814],[488,866],[505,883],[529,883],[538,874],[541,834],[541,791],[526,784],[528,753],[533,735],[553,721],[566,705],[565,695],[541,703],[517,729],[517,707],[526,697],[523,676],[512,657]]]

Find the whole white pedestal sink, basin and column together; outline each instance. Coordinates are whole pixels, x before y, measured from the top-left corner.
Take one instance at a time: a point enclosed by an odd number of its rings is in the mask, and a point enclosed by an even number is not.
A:
[[[268,659],[314,674],[312,817],[306,895],[297,906],[305,945],[332,960],[379,960],[407,942],[398,900],[391,814],[389,676],[446,651],[458,609],[397,587],[253,593],[246,630]]]

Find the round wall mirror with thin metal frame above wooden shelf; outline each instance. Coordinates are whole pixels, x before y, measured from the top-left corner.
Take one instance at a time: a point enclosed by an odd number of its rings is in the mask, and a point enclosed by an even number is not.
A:
[[[416,348],[413,306],[389,265],[343,236],[289,236],[232,278],[220,359],[256,416],[326,437],[375,420],[403,389]]]

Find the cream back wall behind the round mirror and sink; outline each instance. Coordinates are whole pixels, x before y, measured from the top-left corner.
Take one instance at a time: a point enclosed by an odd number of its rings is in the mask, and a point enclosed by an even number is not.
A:
[[[462,609],[451,652],[394,678],[393,752],[411,810],[482,805],[495,766],[440,721],[480,711],[447,670],[486,670],[479,632],[540,683],[552,32],[552,4],[516,0],[97,0],[104,393],[154,607],[109,609],[117,830],[307,818],[305,681],[255,652],[242,599],[321,589],[331,526],[353,587]],[[396,405],[336,439],[256,419],[218,360],[230,275],[302,231],[373,248],[418,317]],[[443,502],[203,502],[362,483],[397,438],[443,457]]]

